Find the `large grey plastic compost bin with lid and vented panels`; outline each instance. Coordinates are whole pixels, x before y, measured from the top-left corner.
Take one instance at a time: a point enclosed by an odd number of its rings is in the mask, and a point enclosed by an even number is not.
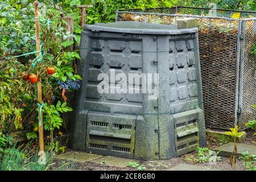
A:
[[[73,106],[73,149],[159,160],[205,145],[197,28],[143,22],[87,25],[80,55],[83,80]],[[142,93],[141,79],[127,80],[127,93],[100,93],[100,73],[144,73],[147,79],[156,74],[158,79],[151,77],[147,85],[152,92]],[[112,89],[119,80],[106,82]],[[155,93],[158,97],[151,98]]]

